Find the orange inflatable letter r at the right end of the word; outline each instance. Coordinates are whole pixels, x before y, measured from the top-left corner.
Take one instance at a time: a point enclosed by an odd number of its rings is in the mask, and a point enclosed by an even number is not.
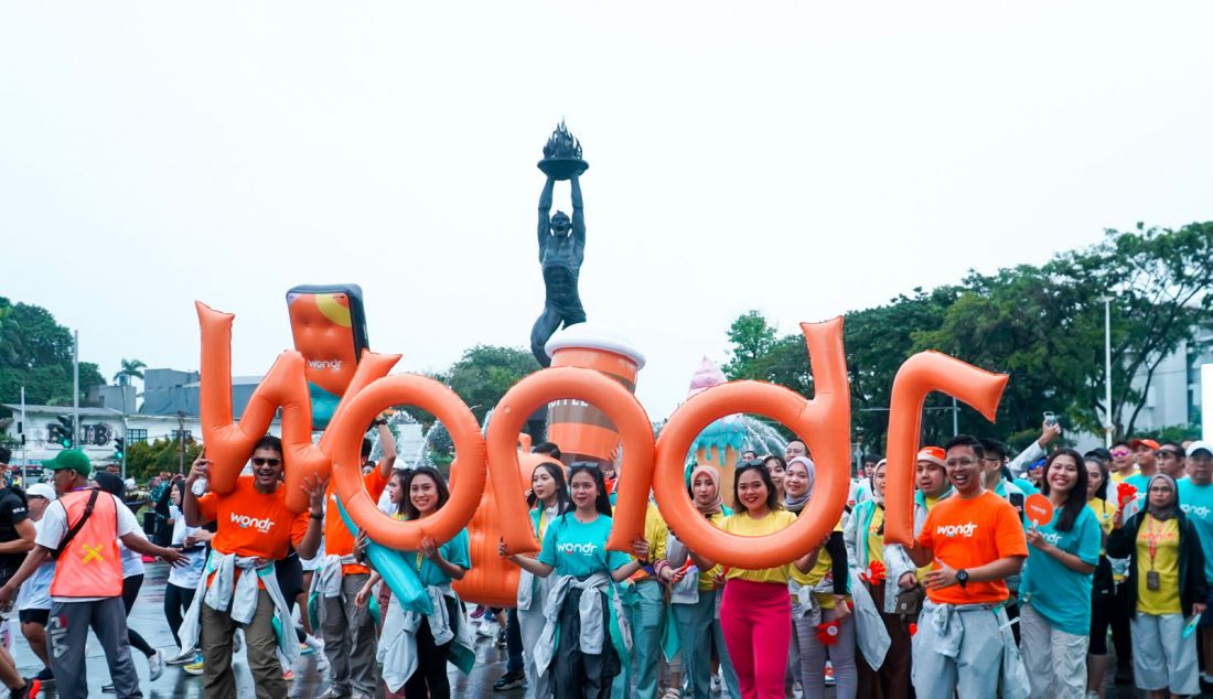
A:
[[[922,404],[940,391],[975,408],[991,422],[1007,387],[1006,374],[992,374],[939,352],[906,359],[893,380],[889,404],[884,541],[913,545],[915,455],[922,434]]]

